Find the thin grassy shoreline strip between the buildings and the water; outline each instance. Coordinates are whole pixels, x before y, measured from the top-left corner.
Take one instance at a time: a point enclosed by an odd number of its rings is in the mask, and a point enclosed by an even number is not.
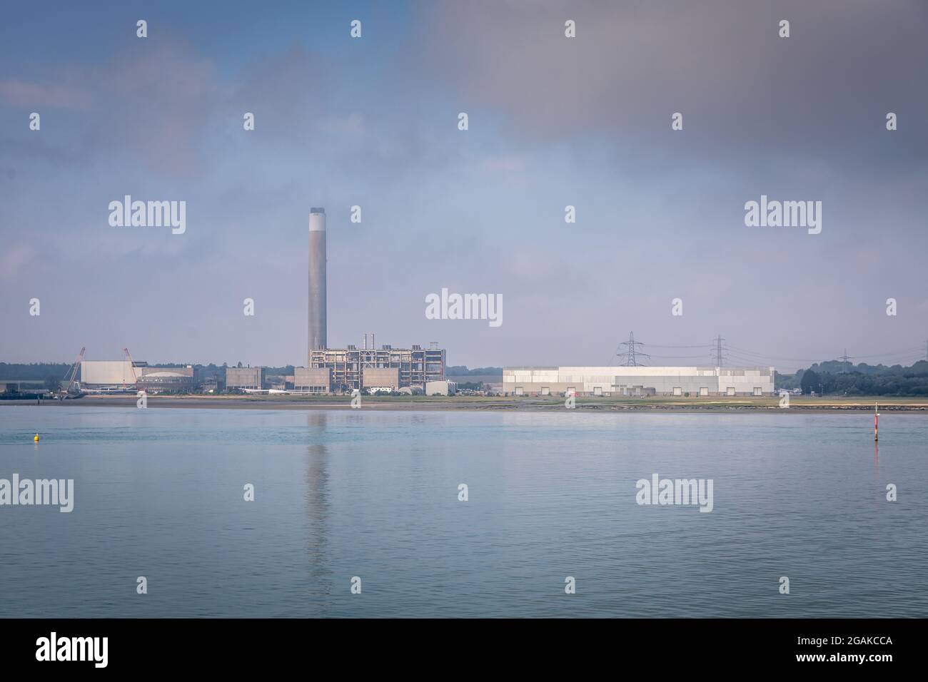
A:
[[[43,400],[41,405],[34,400],[3,400],[0,407],[41,406],[41,407],[135,407],[135,395],[121,396],[84,396],[78,400]],[[791,400],[787,408],[780,407],[779,398],[732,398],[720,399],[679,399],[679,398],[645,398],[645,399],[610,399],[577,398],[574,411],[586,413],[657,413],[657,414],[864,414],[872,413],[873,405],[879,404],[881,413],[928,415],[928,399],[885,397],[885,403],[878,396],[862,398],[806,398]],[[287,410],[322,410],[352,409],[352,398],[345,396],[242,396],[242,395],[149,395],[148,407],[167,409],[287,409]],[[554,412],[564,410],[562,399],[533,397],[483,397],[453,396],[413,398],[363,396],[361,409],[381,411],[409,410],[464,410],[464,411],[516,411],[516,412]]]

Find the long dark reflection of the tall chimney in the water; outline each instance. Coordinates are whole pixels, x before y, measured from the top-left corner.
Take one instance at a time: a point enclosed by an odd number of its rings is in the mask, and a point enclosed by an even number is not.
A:
[[[314,615],[323,615],[331,590],[327,548],[329,545],[329,450],[326,446],[329,414],[323,410],[306,413],[306,550],[309,553],[309,593],[316,596]]]

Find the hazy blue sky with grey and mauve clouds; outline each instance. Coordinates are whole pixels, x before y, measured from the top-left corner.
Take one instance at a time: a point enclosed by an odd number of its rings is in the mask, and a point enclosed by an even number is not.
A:
[[[712,365],[717,335],[728,365],[908,365],[926,34],[923,0],[6,6],[0,361],[302,366],[321,206],[330,347],[606,365],[634,332],[652,365]],[[186,231],[110,225],[124,195],[186,201]],[[821,201],[821,232],[745,225],[761,195]],[[429,319],[443,288],[502,324]]]

